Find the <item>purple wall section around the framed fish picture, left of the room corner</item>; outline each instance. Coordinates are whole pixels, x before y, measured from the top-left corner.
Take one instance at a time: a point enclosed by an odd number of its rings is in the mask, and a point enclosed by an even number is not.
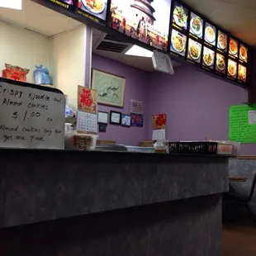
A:
[[[141,100],[144,104],[144,109],[147,109],[147,97],[149,88],[149,84],[147,83],[148,73],[99,55],[92,55],[92,68],[101,69],[102,71],[126,77],[124,109],[99,105],[99,111],[110,112],[111,110],[115,110],[121,111],[125,114],[130,114],[130,99]],[[146,116],[145,121],[147,121]],[[116,142],[119,144],[139,145],[140,140],[146,139],[147,128],[146,126],[143,128],[126,128],[108,124],[107,132],[99,132],[98,134],[99,140],[116,140]]]

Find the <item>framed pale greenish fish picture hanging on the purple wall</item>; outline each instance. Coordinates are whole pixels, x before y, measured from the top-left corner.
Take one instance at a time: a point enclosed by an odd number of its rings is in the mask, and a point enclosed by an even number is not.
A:
[[[99,104],[124,107],[126,78],[92,69],[92,89],[97,90]]]

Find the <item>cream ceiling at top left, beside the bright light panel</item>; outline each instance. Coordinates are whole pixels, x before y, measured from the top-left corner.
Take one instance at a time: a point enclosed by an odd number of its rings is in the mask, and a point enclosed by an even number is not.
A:
[[[44,36],[55,36],[82,24],[30,0],[22,1],[21,11],[0,7],[0,21],[6,21]]]

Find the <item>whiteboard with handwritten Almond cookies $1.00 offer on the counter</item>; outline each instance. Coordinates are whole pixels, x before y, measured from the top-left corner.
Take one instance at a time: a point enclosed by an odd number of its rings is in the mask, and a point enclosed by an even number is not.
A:
[[[0,81],[0,147],[64,149],[64,112],[61,93]]]

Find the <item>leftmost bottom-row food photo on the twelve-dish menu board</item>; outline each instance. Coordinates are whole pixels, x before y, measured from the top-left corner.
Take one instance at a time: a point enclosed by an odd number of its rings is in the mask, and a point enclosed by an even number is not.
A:
[[[173,29],[171,36],[171,51],[177,53],[178,55],[185,56],[186,45],[187,36]]]

